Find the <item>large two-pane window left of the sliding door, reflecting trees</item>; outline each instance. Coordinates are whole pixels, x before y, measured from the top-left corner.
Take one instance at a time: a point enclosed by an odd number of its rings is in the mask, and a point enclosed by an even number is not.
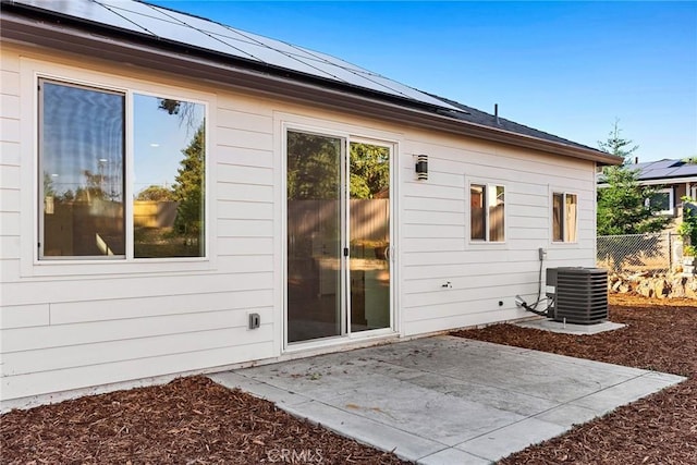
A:
[[[205,110],[40,79],[39,258],[205,256]]]

